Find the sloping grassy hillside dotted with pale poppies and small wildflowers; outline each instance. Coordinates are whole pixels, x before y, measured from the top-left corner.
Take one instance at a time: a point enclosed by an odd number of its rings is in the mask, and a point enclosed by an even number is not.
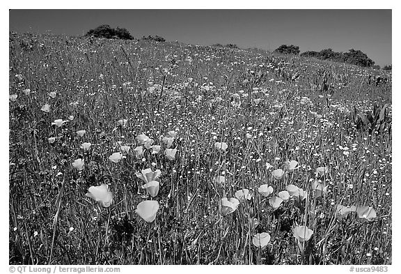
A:
[[[10,264],[391,264],[391,73],[10,33],[9,127]]]

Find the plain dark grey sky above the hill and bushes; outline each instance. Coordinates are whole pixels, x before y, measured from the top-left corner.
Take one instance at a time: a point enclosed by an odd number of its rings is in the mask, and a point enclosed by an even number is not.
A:
[[[10,10],[11,31],[78,36],[100,24],[197,45],[354,48],[379,66],[392,63],[391,10]]]

